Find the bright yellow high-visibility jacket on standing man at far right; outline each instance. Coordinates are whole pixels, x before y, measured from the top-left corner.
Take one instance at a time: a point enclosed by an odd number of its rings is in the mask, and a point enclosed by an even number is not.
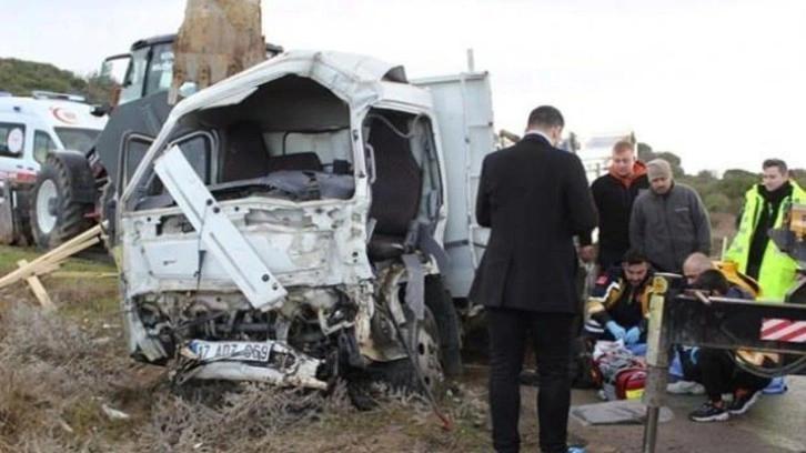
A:
[[[775,218],[773,228],[780,228],[784,222],[785,207],[789,203],[806,203],[806,191],[794,181],[792,184],[792,197],[785,198],[778,214]],[[725,254],[725,261],[737,264],[738,271],[747,272],[747,260],[750,253],[750,242],[758,223],[759,211],[764,208],[764,199],[758,193],[758,187],[754,185],[745,193],[745,208],[742,213],[738,232]],[[758,284],[762,286],[762,301],[784,302],[787,291],[797,281],[797,261],[788,254],[778,250],[770,240],[762,256],[762,266],[758,272]]]

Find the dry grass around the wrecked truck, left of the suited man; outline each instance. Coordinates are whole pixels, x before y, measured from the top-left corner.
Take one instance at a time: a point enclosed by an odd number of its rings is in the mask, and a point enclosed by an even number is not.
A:
[[[0,272],[20,258],[9,249],[0,255]],[[0,290],[0,453],[490,449],[486,403],[473,387],[443,402],[452,432],[422,399],[384,390],[376,409],[361,412],[344,386],[330,394],[258,384],[172,387],[164,369],[128,358],[113,279],[44,284],[57,313],[42,313],[24,284]],[[104,405],[130,417],[110,420]]]

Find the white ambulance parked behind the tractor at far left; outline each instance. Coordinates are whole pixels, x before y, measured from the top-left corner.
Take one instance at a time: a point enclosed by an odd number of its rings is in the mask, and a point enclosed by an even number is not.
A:
[[[107,123],[74,94],[33,91],[30,97],[0,92],[0,184],[31,182],[49,151],[85,153]]]

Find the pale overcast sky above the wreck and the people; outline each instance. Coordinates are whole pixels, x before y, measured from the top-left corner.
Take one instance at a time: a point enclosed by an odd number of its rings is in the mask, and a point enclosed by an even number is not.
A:
[[[194,1],[194,0],[191,0]],[[179,29],[185,0],[0,0],[0,57],[80,74],[139,38]],[[633,130],[688,173],[806,168],[803,0],[264,0],[266,40],[456,73],[473,49],[495,128],[553,104],[566,131]],[[1,87],[0,87],[1,89]]]

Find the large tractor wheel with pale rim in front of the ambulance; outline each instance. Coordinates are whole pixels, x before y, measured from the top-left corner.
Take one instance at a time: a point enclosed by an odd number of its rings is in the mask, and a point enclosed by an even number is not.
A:
[[[56,248],[92,225],[87,214],[92,212],[94,203],[85,193],[85,180],[88,175],[92,179],[92,172],[85,160],[83,169],[77,159],[72,153],[67,158],[51,153],[37,177],[30,218],[33,240],[40,249]]]

